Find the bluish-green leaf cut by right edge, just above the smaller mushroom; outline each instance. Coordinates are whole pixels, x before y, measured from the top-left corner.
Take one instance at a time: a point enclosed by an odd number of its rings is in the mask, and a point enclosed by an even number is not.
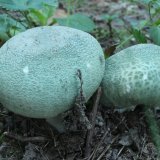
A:
[[[149,33],[153,42],[157,45],[160,45],[160,27],[151,27]]]

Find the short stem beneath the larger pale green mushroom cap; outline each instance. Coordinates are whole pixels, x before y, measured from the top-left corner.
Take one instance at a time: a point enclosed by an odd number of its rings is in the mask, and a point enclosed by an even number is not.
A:
[[[65,125],[63,121],[63,116],[61,114],[53,118],[47,118],[46,121],[59,133],[65,132]]]

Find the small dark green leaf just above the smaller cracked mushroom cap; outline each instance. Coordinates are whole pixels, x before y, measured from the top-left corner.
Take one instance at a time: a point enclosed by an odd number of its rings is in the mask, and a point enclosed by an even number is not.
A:
[[[133,29],[132,33],[138,43],[147,43],[145,35],[140,30]]]

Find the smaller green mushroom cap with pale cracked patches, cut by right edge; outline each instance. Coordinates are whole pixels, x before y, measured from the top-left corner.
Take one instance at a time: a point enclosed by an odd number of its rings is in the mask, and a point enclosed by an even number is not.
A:
[[[108,58],[102,88],[106,106],[160,105],[160,47],[138,44]]]

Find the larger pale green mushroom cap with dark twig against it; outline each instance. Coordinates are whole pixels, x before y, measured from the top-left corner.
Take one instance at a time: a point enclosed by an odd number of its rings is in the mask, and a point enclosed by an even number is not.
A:
[[[88,100],[104,69],[102,48],[90,34],[62,26],[29,29],[0,48],[0,102],[23,116],[54,117],[75,103],[77,70]]]

